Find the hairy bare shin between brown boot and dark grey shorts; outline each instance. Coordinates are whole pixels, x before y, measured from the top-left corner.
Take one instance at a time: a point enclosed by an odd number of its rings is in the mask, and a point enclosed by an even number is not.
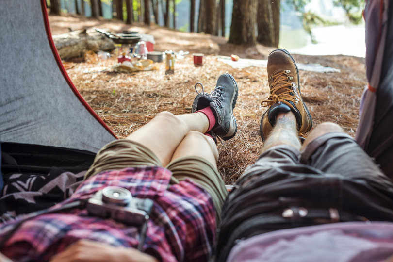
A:
[[[262,152],[279,145],[290,145],[300,150],[300,140],[296,128],[296,118],[292,112],[279,113],[276,125],[263,143]]]

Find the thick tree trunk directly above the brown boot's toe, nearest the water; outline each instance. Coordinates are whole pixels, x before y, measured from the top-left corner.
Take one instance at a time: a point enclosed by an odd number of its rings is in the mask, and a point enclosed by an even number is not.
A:
[[[278,47],[279,1],[259,0],[257,41],[267,47]],[[277,13],[278,12],[278,13]]]

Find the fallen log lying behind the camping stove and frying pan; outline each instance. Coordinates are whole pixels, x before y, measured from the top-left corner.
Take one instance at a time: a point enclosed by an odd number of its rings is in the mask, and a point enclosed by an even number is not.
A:
[[[94,29],[57,34],[52,38],[62,60],[83,57],[87,51],[112,51],[115,49],[112,39]]]

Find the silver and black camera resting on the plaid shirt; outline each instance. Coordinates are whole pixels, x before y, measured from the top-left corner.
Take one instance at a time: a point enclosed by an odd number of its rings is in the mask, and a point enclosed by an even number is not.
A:
[[[122,187],[107,186],[88,199],[86,209],[94,216],[112,218],[127,225],[141,226],[149,219],[153,201],[132,197],[131,192]]]

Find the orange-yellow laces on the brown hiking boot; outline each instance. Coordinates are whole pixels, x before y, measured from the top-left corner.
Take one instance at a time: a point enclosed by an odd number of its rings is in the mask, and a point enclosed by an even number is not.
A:
[[[287,75],[290,72],[290,70],[284,70],[270,76],[270,79],[273,80],[272,89],[270,90],[270,95],[267,100],[263,100],[261,102],[261,106],[266,107],[271,106],[274,103],[282,102],[288,105],[290,108],[296,110],[296,108],[294,108],[294,106],[290,103],[290,101],[295,104],[297,103],[294,96],[291,95],[291,93],[293,92],[290,88],[292,87],[292,83],[289,81],[292,80],[293,77]],[[278,90],[280,90],[281,92],[279,94],[276,94]]]

